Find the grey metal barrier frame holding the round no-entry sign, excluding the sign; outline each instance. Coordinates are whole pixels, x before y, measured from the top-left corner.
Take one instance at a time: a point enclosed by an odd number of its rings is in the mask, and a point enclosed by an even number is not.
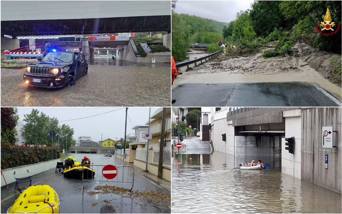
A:
[[[106,165],[91,165],[90,168],[95,170],[95,176],[90,179],[84,179],[84,172],[86,169],[84,167],[87,167],[87,165],[82,166],[82,193],[84,192],[84,181],[97,181],[97,182],[117,182],[117,183],[129,183],[132,184],[132,187],[130,191],[132,191],[134,187],[134,168],[133,166],[122,166],[122,165],[115,165],[116,177],[113,179],[107,179],[103,176],[102,170]],[[130,168],[132,168],[132,171],[130,171]],[[131,172],[131,173],[130,173]],[[135,191],[133,189],[134,197],[135,197]]]

